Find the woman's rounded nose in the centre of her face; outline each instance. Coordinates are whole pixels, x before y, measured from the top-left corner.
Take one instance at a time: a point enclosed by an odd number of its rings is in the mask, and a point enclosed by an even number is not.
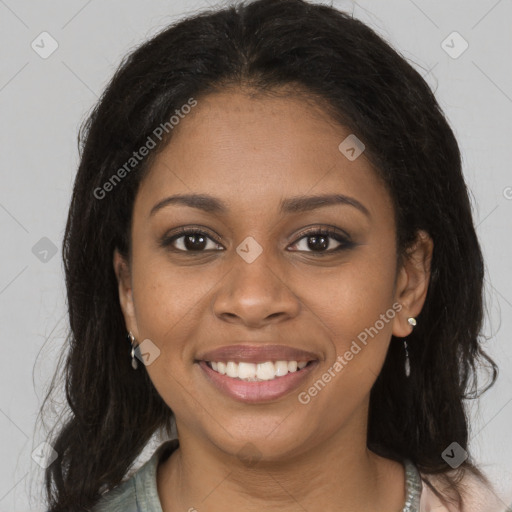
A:
[[[214,295],[214,314],[225,322],[257,328],[295,318],[301,302],[286,275],[264,256],[252,263],[237,256]]]

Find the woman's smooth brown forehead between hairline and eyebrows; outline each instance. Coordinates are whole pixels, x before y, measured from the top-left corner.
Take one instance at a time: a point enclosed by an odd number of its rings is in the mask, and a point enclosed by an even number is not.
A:
[[[137,203],[144,214],[176,193],[222,197],[234,214],[327,192],[366,201],[369,210],[389,206],[364,153],[349,160],[340,151],[350,130],[314,101],[237,90],[197,101],[141,184]]]

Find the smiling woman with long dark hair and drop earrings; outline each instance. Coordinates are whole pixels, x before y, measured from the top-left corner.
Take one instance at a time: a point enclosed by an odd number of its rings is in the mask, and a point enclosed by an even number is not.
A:
[[[506,509],[467,453],[497,368],[457,142],[361,22],[258,0],[142,45],[85,126],[63,256],[52,512]]]

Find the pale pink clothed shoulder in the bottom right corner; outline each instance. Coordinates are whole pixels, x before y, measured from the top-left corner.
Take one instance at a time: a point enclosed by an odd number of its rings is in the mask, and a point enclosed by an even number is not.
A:
[[[448,474],[455,477],[456,472]],[[453,491],[447,488],[446,483],[440,475],[425,475],[421,473],[422,492],[420,501],[420,512],[462,512],[462,509],[450,501],[443,502],[435,492],[426,484],[428,480],[447,500],[454,498]],[[458,483],[462,496],[464,512],[511,512],[512,509],[500,499],[495,489],[482,482],[476,475],[466,471]]]

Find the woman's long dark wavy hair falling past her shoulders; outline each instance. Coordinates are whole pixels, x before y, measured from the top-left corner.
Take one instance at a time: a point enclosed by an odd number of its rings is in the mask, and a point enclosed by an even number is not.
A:
[[[418,230],[432,237],[428,294],[408,338],[411,376],[402,344],[392,342],[371,390],[367,444],[441,476],[459,503],[464,472],[490,485],[471,457],[454,476],[441,456],[453,441],[468,450],[464,400],[479,396],[480,368],[492,370],[483,391],[498,374],[482,348],[484,262],[454,134],[421,75],[364,23],[303,0],[257,0],[194,13],[139,46],[81,128],[63,242],[69,410],[49,439],[58,453],[45,474],[49,509],[87,510],[123,480],[156,432],[171,432],[172,410],[147,372],[131,369],[112,256],[118,248],[129,260],[134,198],[172,131],[104,198],[94,191],[191,97],[227,87],[288,87],[321,103],[364,141],[386,184],[398,261]]]

